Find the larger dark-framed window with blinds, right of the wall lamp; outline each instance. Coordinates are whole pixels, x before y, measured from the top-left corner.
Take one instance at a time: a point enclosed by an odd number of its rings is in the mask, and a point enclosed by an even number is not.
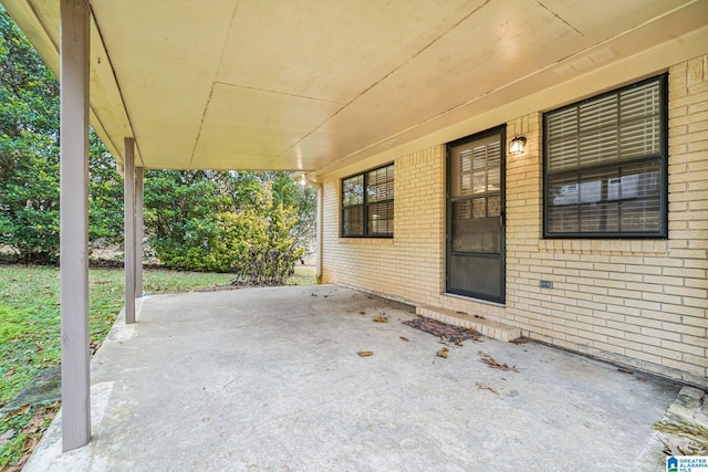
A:
[[[666,74],[543,115],[545,238],[666,238]]]

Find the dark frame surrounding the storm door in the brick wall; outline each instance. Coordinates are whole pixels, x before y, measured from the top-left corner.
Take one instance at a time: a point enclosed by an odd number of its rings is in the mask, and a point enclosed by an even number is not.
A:
[[[501,198],[501,216],[500,216],[500,253],[498,255],[499,261],[501,263],[500,271],[500,289],[501,296],[494,297],[488,294],[478,293],[475,291],[467,290],[450,290],[449,283],[449,263],[451,256],[451,245],[452,245],[452,203],[451,203],[451,193],[452,193],[452,148],[465,145],[467,143],[471,143],[478,139],[482,139],[488,136],[499,135],[501,140],[501,158],[500,158],[500,198]],[[507,125],[494,126],[493,128],[486,129],[480,133],[475,133],[472,135],[465,136],[462,138],[450,141],[446,145],[445,153],[445,293],[461,295],[470,298],[477,298],[486,302],[493,302],[504,304],[507,301]],[[483,254],[479,254],[483,256]],[[490,256],[497,256],[490,255]]]

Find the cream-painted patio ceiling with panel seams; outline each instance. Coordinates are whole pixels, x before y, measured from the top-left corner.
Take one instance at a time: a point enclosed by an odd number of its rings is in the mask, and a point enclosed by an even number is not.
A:
[[[2,3],[56,72],[59,1]],[[708,53],[708,0],[90,4],[92,124],[147,168],[331,170],[639,56],[635,75]]]

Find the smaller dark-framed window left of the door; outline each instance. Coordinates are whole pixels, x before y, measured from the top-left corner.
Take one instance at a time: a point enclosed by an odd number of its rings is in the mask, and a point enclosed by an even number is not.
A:
[[[342,237],[393,238],[394,165],[342,180]]]

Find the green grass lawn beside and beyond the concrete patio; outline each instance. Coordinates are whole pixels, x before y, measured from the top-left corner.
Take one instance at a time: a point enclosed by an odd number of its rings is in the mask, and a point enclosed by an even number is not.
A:
[[[177,293],[227,285],[231,274],[146,270],[144,290]],[[0,265],[0,407],[10,402],[42,369],[61,359],[59,269]],[[289,285],[315,283],[315,270],[295,266]],[[92,269],[90,344],[101,346],[123,307],[123,270]],[[59,409],[58,403],[0,416],[0,470],[21,465]]]

